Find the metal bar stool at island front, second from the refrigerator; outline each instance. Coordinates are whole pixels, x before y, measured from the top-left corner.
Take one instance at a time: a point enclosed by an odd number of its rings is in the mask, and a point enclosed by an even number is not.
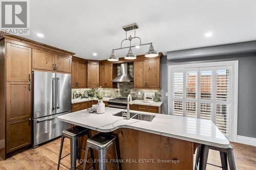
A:
[[[116,136],[107,134],[107,133],[98,133],[97,135],[91,137],[90,139],[87,140],[86,144],[86,153],[84,157],[87,157],[88,154],[88,149],[94,149],[99,152],[99,170],[106,170],[106,153],[109,147],[111,145],[115,145],[115,151],[116,151],[116,158],[118,159],[117,161],[117,166],[118,169],[121,168],[121,163],[120,163],[120,152],[119,152],[119,147],[117,147],[118,142],[116,142],[117,138]],[[86,164],[83,165],[83,170],[86,168]]]

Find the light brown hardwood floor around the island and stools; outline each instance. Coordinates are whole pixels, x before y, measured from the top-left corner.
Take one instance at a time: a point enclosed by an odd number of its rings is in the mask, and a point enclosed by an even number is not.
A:
[[[25,152],[16,154],[5,161],[0,161],[0,169],[2,170],[44,170],[57,169],[60,139],[53,140],[49,143],[41,145],[36,149],[30,149]],[[238,170],[255,170],[256,169],[256,147],[250,145],[232,143],[234,149],[234,157]],[[69,140],[65,139],[62,156],[69,153]],[[62,163],[69,165],[69,156],[61,160]],[[208,163],[221,166],[220,154],[217,151],[210,151]],[[60,166],[60,169],[67,169]],[[78,169],[82,169],[80,166]],[[221,170],[220,167],[207,165],[207,170]]]

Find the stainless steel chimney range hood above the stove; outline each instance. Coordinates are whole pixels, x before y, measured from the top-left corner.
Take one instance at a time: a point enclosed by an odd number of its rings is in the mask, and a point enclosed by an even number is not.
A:
[[[130,67],[127,63],[121,64],[121,74],[113,79],[112,82],[133,82],[133,77],[130,75]]]

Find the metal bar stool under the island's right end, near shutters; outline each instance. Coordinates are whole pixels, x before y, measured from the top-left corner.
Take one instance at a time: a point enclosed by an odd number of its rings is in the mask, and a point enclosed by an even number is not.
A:
[[[229,148],[218,148],[218,147],[212,147],[212,146],[205,145],[205,144],[201,144],[197,148],[195,170],[198,169],[198,163],[199,163],[200,170],[206,169],[209,150],[215,150],[215,151],[220,152],[222,166],[218,166],[218,167],[221,167],[222,170],[228,169],[227,168],[227,159],[228,159],[229,168],[231,170],[236,170],[236,163],[234,162],[233,148],[231,145],[229,145]],[[210,164],[210,163],[208,163],[208,164]],[[211,165],[213,165],[213,164],[211,164]],[[214,165],[214,166],[217,166],[217,165]]]

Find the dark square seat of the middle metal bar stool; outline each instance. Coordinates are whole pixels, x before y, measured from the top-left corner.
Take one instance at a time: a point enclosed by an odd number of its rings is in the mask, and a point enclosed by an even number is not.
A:
[[[88,143],[97,145],[99,148],[105,148],[116,139],[116,136],[107,133],[98,133],[97,135],[91,137],[87,140]]]

